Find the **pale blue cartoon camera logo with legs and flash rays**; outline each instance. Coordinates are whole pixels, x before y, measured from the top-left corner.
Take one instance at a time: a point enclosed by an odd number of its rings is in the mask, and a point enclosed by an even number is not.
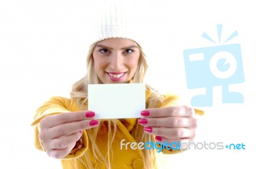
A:
[[[220,42],[222,25],[217,25],[217,29]],[[234,31],[226,41],[237,35],[237,31]],[[215,43],[206,33],[202,37]],[[188,89],[206,89],[205,95],[191,98],[192,106],[212,106],[212,87],[217,85],[222,86],[222,103],[243,103],[243,94],[228,91],[228,85],[244,82],[239,44],[193,48],[184,50],[183,55]]]

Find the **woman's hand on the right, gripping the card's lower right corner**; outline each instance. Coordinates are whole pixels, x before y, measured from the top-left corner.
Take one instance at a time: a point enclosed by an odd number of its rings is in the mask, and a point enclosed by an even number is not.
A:
[[[191,142],[195,137],[195,110],[186,106],[148,108],[141,112],[138,123],[155,135],[158,142]]]

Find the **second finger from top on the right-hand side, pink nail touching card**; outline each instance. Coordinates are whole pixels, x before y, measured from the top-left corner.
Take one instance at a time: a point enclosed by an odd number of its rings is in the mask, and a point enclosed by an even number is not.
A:
[[[188,117],[143,118],[138,123],[143,126],[165,128],[195,128],[196,119]]]

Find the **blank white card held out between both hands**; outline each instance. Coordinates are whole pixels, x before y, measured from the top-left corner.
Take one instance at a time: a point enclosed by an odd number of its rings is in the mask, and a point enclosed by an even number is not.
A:
[[[88,110],[95,119],[138,118],[145,103],[145,84],[88,85]]]

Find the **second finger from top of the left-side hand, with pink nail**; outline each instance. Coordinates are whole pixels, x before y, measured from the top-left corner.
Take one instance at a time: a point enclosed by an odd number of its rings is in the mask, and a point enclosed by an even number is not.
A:
[[[83,129],[90,129],[94,128],[99,124],[99,121],[93,120],[84,120],[84,121],[77,121],[77,122],[70,122],[66,124],[61,124],[59,126],[55,126],[49,129],[49,133],[52,133],[49,138],[59,138],[61,136],[71,135],[72,133],[76,133]]]

